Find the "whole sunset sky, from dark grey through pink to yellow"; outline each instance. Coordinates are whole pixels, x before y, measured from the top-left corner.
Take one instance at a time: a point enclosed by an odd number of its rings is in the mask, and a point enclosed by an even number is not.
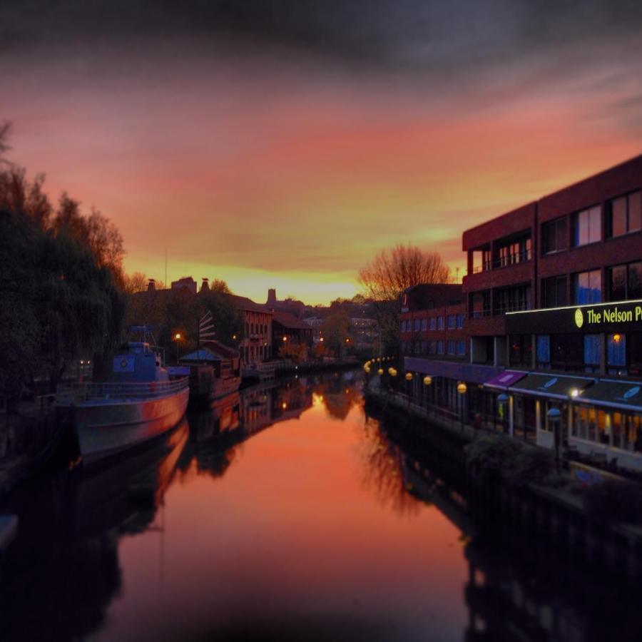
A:
[[[464,230],[642,153],[641,34],[624,0],[9,0],[0,123],[128,272],[327,303],[397,243],[461,278]]]

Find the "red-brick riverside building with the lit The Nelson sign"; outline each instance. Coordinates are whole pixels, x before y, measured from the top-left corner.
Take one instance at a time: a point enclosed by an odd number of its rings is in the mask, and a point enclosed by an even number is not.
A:
[[[451,408],[476,425],[642,469],[642,156],[465,231],[462,247],[465,355],[410,350],[402,326],[406,370],[464,382]],[[414,377],[441,403],[430,387]]]

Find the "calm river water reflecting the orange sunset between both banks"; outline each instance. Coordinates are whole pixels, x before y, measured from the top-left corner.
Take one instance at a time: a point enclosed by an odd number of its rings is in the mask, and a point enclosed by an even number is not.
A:
[[[457,467],[368,418],[360,386],[250,389],[14,494],[0,639],[641,638],[630,589],[474,534]]]

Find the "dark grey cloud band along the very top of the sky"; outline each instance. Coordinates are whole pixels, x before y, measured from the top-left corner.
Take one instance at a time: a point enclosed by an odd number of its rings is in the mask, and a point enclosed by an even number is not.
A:
[[[21,0],[0,7],[0,43],[117,46],[188,36],[289,47],[350,66],[452,73],[626,39],[641,24],[642,3],[629,0]]]

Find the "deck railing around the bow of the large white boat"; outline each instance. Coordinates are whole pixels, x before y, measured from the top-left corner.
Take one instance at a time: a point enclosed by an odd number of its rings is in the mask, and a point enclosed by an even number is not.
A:
[[[189,387],[188,377],[173,381],[151,382],[100,382],[78,384],[69,389],[62,389],[56,395],[56,402],[61,405],[86,401],[116,401],[118,399],[153,399],[168,397]]]

